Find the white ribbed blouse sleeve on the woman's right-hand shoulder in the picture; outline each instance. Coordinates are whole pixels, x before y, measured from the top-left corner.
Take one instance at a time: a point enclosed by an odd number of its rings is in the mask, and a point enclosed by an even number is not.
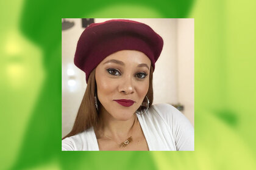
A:
[[[194,151],[194,127],[185,115],[169,104],[156,104],[155,107],[170,127],[177,151]]]

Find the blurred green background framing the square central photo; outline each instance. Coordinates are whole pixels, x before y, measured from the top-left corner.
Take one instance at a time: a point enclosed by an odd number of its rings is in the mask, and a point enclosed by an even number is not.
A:
[[[0,169],[256,169],[255,1],[0,6]],[[194,152],[61,151],[61,18],[118,17],[194,18]]]

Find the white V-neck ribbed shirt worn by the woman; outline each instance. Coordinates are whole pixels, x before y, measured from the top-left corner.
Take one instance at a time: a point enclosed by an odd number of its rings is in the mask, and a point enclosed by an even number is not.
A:
[[[137,117],[149,151],[194,151],[194,127],[175,107],[155,104]],[[93,127],[62,140],[62,151],[99,151]]]

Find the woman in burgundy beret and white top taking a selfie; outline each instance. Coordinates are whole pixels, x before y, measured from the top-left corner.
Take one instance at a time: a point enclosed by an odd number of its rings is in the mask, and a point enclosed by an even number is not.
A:
[[[87,89],[63,151],[193,151],[194,129],[175,107],[153,102],[152,73],[163,39],[146,24],[91,24],[74,63]]]

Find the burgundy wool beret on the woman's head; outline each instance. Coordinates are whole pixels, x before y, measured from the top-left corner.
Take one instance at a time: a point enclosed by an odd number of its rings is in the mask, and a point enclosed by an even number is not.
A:
[[[91,71],[104,58],[120,50],[138,50],[151,60],[155,69],[163,49],[163,39],[146,24],[141,22],[112,19],[90,24],[80,36],[74,64],[86,74],[88,81]]]

